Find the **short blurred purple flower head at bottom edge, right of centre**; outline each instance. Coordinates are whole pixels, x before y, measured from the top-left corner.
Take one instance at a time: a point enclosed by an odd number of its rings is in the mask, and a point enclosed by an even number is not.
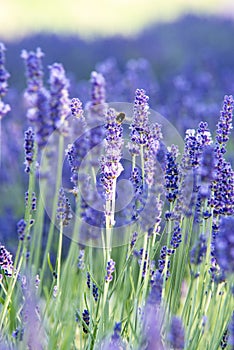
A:
[[[184,349],[184,327],[179,317],[172,317],[168,341],[174,349]]]

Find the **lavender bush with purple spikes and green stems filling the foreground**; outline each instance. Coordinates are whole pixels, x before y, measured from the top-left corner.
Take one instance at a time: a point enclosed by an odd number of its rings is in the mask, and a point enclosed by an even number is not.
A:
[[[214,136],[204,121],[177,145],[140,83],[108,103],[94,71],[82,104],[62,64],[47,85],[42,51],[22,58],[27,185],[14,254],[1,244],[1,348],[233,349],[232,95]]]

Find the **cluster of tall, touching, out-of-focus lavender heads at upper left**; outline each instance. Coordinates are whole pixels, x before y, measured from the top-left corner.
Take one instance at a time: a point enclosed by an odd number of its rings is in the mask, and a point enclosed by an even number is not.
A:
[[[25,99],[28,103],[27,117],[33,123],[39,148],[46,145],[54,130],[66,133],[66,122],[70,115],[68,97],[69,81],[64,68],[59,63],[49,66],[49,91],[43,83],[43,65],[41,49],[36,52],[23,50],[21,57],[25,61],[27,90]]]

